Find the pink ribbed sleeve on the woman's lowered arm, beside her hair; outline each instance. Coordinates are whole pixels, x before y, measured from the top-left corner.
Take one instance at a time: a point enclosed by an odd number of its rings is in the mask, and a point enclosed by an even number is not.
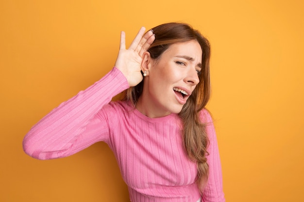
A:
[[[212,122],[212,118],[206,110],[204,110],[204,117],[207,123],[206,131],[210,140],[210,144],[207,148],[207,151],[209,153],[209,155],[207,156],[207,162],[209,164],[209,177],[207,185],[205,186],[203,191],[202,201],[225,202],[222,185],[220,154],[215,128]]]

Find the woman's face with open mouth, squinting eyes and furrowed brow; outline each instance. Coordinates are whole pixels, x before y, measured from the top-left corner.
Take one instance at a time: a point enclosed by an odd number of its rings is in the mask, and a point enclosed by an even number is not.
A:
[[[142,93],[146,110],[141,112],[151,118],[179,113],[199,83],[201,62],[202,48],[195,40],[173,44],[152,60]]]

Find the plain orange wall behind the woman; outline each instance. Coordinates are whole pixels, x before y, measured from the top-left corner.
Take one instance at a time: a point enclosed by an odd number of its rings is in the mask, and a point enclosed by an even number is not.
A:
[[[105,143],[39,161],[22,139],[114,65],[120,31],[182,21],[212,45],[227,202],[304,201],[302,0],[1,0],[0,201],[128,202]]]

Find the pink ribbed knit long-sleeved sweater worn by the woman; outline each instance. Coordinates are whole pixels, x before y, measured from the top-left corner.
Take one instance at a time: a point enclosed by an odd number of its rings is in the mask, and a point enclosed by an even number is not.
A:
[[[98,141],[114,152],[132,202],[196,202],[197,165],[186,156],[182,123],[177,114],[149,118],[128,102],[111,102],[129,88],[113,68],[85,91],[53,109],[35,124],[23,140],[24,151],[38,159],[75,154]],[[210,140],[209,179],[202,202],[224,202],[220,157],[212,119],[201,119]]]

